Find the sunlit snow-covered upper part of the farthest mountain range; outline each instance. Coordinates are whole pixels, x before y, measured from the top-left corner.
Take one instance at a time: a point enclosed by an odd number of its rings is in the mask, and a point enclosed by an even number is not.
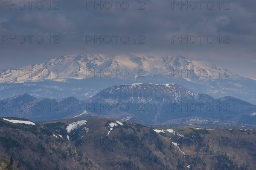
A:
[[[38,82],[44,80],[59,81],[60,79],[86,79],[94,77],[94,72],[105,72],[119,70],[119,75],[122,70],[129,73],[129,78],[134,78],[133,75],[152,76],[159,75],[174,78],[181,78],[179,72],[184,72],[204,69],[214,72],[212,79],[219,76],[218,66],[202,61],[192,61],[183,56],[151,56],[151,55],[116,55],[111,58],[106,58],[104,55],[98,54],[79,54],[79,55],[64,55],[55,59],[51,59],[44,63],[28,65],[23,68],[15,70],[7,70],[1,73],[0,80],[2,83],[24,83],[24,82]],[[24,74],[25,70],[25,75]],[[29,70],[32,70],[29,71]],[[22,76],[19,73],[21,72]],[[194,71],[193,71],[194,72]],[[30,74],[32,73],[32,74]],[[192,73],[193,74],[193,73]],[[221,74],[224,74],[222,72]],[[13,76],[16,75],[16,76]],[[230,73],[231,75],[231,73]],[[119,76],[119,78],[121,78]],[[183,76],[184,78],[184,76]],[[197,82],[207,78],[206,73],[201,77],[187,77],[186,81]]]

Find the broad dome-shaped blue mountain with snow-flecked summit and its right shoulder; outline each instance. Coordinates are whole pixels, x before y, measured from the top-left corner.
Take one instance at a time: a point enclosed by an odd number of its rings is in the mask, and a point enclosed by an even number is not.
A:
[[[255,112],[255,105],[237,98],[215,99],[176,84],[122,84],[104,89],[87,101],[94,106],[88,109],[91,112],[116,118],[133,117],[132,121],[142,124],[170,123],[173,119],[195,116],[235,123],[242,115]]]

